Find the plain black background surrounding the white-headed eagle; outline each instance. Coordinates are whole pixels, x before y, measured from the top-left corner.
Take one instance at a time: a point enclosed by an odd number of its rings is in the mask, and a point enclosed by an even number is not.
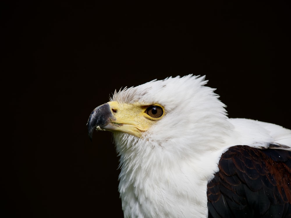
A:
[[[111,133],[86,132],[121,87],[206,75],[230,117],[291,128],[286,2],[2,2],[1,213],[123,217]]]

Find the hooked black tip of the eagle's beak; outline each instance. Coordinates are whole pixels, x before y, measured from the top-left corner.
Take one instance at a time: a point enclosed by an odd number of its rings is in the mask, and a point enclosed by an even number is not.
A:
[[[112,116],[111,109],[108,103],[102,104],[95,108],[87,122],[88,126],[88,136],[92,141],[93,131],[97,128],[98,130],[107,130],[106,126],[111,123]]]

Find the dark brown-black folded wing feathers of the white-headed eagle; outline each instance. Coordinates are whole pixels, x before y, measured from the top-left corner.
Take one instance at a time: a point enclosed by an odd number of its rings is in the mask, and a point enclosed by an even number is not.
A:
[[[291,217],[291,151],[233,146],[207,184],[208,217]]]

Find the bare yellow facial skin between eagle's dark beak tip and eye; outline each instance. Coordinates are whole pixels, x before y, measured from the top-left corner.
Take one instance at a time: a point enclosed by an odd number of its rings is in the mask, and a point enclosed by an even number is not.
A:
[[[151,117],[147,113],[148,108],[152,105],[118,103],[117,101],[109,101],[108,104],[112,117],[110,119],[110,127],[105,129],[109,131],[121,131],[139,138],[150,126],[166,114],[163,106],[159,104],[154,105],[162,108],[163,114],[157,118]]]

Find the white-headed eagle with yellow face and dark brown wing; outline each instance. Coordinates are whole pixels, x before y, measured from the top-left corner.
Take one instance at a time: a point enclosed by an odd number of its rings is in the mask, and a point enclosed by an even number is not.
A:
[[[87,122],[110,131],[124,217],[291,217],[291,130],[229,118],[205,76],[115,90]]]

